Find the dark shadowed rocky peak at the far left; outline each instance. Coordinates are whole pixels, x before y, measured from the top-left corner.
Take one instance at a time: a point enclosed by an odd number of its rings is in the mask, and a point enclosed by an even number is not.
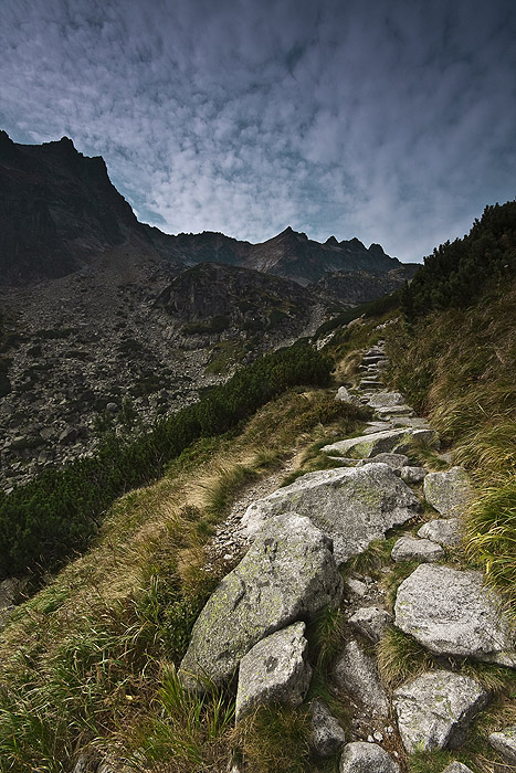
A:
[[[77,152],[67,137],[17,145],[0,131],[0,189],[3,280],[64,276],[130,234],[148,242],[104,160]]]

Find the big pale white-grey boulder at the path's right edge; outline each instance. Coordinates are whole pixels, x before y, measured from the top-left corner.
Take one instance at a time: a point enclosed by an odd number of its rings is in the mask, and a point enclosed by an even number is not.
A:
[[[435,655],[516,667],[514,636],[483,575],[421,564],[398,589],[396,625]]]

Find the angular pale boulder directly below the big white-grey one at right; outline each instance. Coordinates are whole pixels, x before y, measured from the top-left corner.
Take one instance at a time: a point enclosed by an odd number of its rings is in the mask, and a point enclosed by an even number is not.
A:
[[[409,753],[455,749],[464,742],[488,693],[475,679],[452,671],[427,671],[394,690],[394,710]]]

